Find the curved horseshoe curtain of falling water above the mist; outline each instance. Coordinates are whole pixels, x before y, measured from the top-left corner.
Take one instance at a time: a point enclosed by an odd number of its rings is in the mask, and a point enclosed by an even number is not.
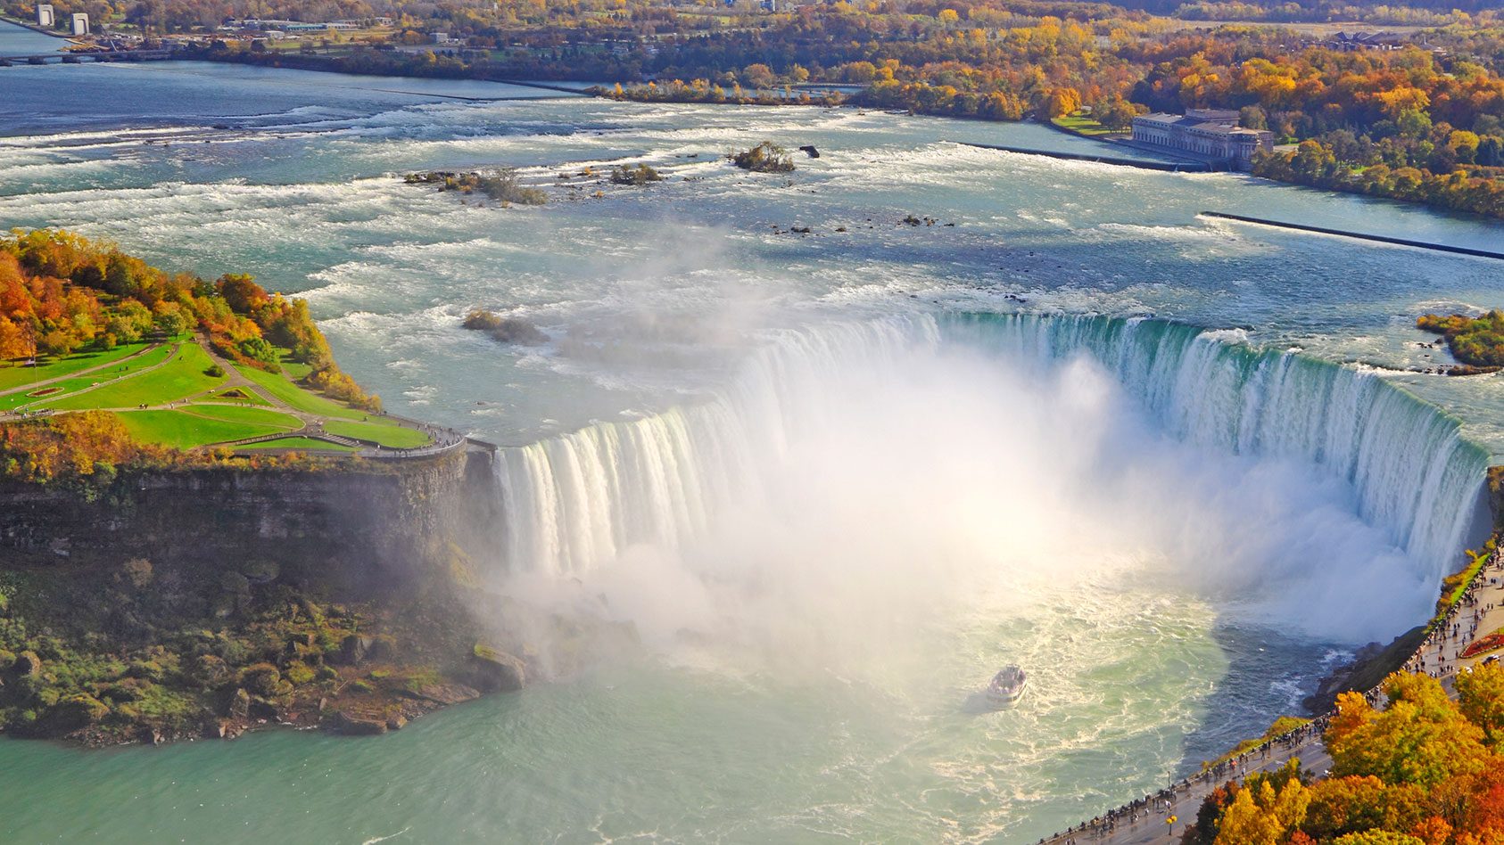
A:
[[[708,401],[504,450],[507,567],[569,574],[636,543],[675,549],[757,495],[835,373],[951,346],[1039,367],[1089,355],[1175,438],[1351,484],[1358,516],[1426,577],[1451,568],[1474,519],[1487,454],[1376,373],[1154,319],[914,316],[785,331]]]

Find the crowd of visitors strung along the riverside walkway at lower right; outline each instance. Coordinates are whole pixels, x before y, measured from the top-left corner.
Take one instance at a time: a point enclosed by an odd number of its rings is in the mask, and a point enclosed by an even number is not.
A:
[[[1477,638],[1483,616],[1493,610],[1496,604],[1484,601],[1480,597],[1481,589],[1484,586],[1498,586],[1501,583],[1504,583],[1504,556],[1501,556],[1499,550],[1493,550],[1487,562],[1474,576],[1472,582],[1468,583],[1462,597],[1451,604],[1444,616],[1432,622],[1426,639],[1415,650],[1415,654],[1405,663],[1405,671],[1426,672],[1433,678],[1442,678],[1448,674],[1454,674],[1457,657],[1460,657],[1468,644]],[[1427,660],[1426,656],[1432,648],[1436,650],[1436,659]],[[1445,659],[1448,648],[1453,651],[1453,657],[1450,660]],[[1370,705],[1382,707],[1384,692],[1379,687],[1364,692],[1363,696]],[[1314,741],[1319,741],[1321,735],[1327,731],[1327,726],[1331,722],[1331,713],[1318,716],[1293,731],[1265,740],[1242,753],[1208,765],[1202,771],[1190,777],[1182,777],[1179,782],[1175,782],[1158,792],[1145,795],[1090,821],[1041,839],[1039,845],[1045,845],[1047,842],[1056,845],[1077,845],[1078,836],[1084,836],[1087,839],[1102,839],[1113,836],[1123,825],[1136,827],[1139,821],[1149,819],[1151,816],[1160,816],[1163,821],[1158,824],[1166,830],[1166,833],[1173,833],[1173,824],[1167,824],[1167,821],[1176,818],[1175,806],[1182,797],[1193,797],[1199,801],[1205,791],[1196,789],[1197,786],[1211,789],[1217,783],[1241,779],[1253,771],[1265,768],[1271,759],[1283,764],[1295,756],[1293,752],[1296,749],[1302,749]]]

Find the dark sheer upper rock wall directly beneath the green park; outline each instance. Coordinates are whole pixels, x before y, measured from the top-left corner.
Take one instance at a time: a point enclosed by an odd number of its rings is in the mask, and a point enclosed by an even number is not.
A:
[[[498,495],[483,450],[368,471],[122,474],[102,490],[0,483],[0,559],[215,568],[275,561],[283,579],[352,598],[400,588],[456,549],[495,549]],[[489,537],[487,537],[489,535]]]

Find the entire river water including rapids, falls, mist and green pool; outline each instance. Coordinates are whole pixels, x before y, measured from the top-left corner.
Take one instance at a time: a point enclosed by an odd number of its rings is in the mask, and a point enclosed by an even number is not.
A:
[[[1197,214],[1490,223],[948,143],[1086,143],[1026,125],[199,63],[0,84],[5,226],[305,295],[388,407],[508,447],[490,583],[638,635],[371,741],[0,743],[5,842],[1032,842],[1418,622],[1504,451],[1504,380],[1402,371],[1441,358],[1417,313],[1504,304],[1496,268]],[[823,155],[720,161],[764,138]],[[618,161],[668,179],[558,179]],[[550,203],[400,180],[493,164]],[[1027,696],[975,711],[1003,663]]]

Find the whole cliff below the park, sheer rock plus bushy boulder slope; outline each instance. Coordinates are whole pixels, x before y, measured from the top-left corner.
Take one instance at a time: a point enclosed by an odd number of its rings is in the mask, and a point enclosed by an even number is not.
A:
[[[475,613],[492,457],[0,483],[0,731],[379,734],[520,689]]]

